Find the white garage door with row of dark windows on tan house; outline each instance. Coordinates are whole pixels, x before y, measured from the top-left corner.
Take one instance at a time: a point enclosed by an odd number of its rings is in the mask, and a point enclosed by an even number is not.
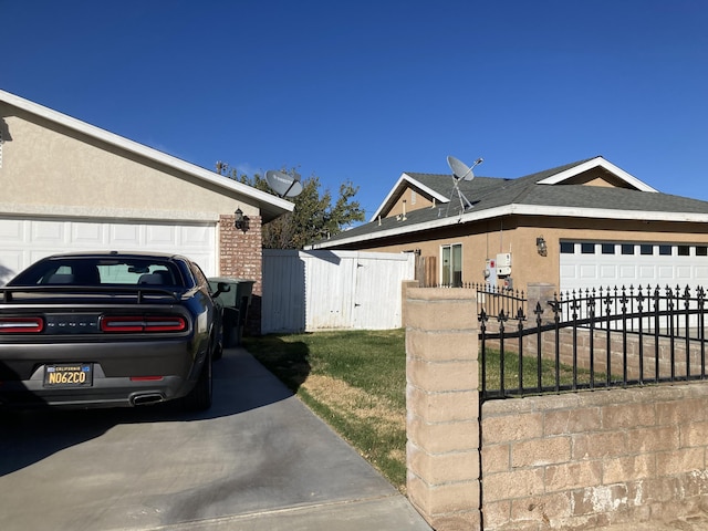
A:
[[[587,288],[708,287],[708,247],[561,242],[561,291]]]

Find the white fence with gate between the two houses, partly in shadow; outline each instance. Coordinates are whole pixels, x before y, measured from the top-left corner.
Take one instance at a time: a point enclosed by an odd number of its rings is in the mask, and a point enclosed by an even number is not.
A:
[[[263,249],[261,332],[402,326],[413,253]]]

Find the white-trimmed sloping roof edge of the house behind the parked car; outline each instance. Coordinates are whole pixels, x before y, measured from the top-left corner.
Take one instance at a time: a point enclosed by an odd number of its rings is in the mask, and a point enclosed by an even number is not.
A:
[[[30,102],[20,96],[15,96],[6,91],[0,90],[0,102],[4,102],[14,107],[21,108],[28,113],[40,116],[50,122],[63,125],[92,138],[105,142],[126,152],[139,155],[156,163],[163,164],[180,173],[195,177],[197,181],[202,181],[205,185],[216,186],[221,188],[225,192],[237,192],[253,201],[253,206],[258,207],[263,222],[271,221],[272,219],[293,210],[294,205],[285,199],[281,199],[271,194],[258,190],[252,186],[244,185],[217,174],[216,171],[208,170],[200,166],[196,166],[191,163],[187,163],[180,158],[167,155],[164,152],[159,152],[152,147],[138,144],[123,136],[116,135],[108,131],[102,129],[94,125],[87,124],[80,119],[76,119],[66,114],[59,113],[49,107],[42,106],[38,103]]]

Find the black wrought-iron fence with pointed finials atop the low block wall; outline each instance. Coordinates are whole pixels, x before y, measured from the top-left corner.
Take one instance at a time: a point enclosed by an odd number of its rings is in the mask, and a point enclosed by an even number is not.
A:
[[[525,304],[478,288],[482,399],[706,379],[702,288],[573,291],[532,315]]]

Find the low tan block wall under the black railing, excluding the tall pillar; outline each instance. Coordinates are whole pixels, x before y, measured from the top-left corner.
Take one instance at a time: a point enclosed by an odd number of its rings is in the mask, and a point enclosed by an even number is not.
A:
[[[690,514],[708,502],[707,435],[705,384],[487,402],[483,529],[582,530]]]

